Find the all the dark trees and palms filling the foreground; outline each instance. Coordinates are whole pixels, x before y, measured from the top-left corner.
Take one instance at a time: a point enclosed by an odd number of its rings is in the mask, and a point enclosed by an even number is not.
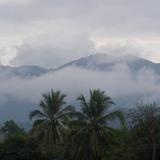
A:
[[[42,98],[40,109],[29,114],[34,122],[28,133],[13,120],[1,127],[1,160],[160,159],[160,108],[155,102],[122,112],[100,89],[90,90],[88,99],[77,97],[80,109],[67,105],[60,91]],[[114,127],[111,121],[121,125]]]

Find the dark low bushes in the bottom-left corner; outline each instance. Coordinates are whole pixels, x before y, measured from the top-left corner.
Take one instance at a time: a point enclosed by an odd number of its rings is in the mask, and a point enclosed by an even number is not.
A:
[[[34,138],[10,136],[0,143],[1,160],[44,160]]]

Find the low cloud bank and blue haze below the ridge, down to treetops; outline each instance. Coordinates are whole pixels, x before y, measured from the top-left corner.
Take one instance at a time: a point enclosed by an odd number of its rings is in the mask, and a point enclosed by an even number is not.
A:
[[[125,102],[123,107],[131,107],[136,101],[159,103],[160,76],[146,69],[132,74],[125,64],[117,64],[108,72],[68,67],[33,79],[12,77],[1,80],[0,88],[1,121],[11,118],[27,121],[29,112],[38,108],[42,93],[51,89],[66,93],[66,101],[71,104],[75,104],[81,93],[88,96],[90,89],[97,88],[106,91],[117,107],[119,100]]]

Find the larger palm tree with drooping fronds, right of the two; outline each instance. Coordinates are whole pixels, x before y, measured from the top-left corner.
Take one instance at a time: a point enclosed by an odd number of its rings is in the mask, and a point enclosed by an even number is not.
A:
[[[77,98],[81,111],[75,113],[68,134],[68,150],[74,159],[99,160],[106,152],[106,147],[113,144],[114,129],[107,125],[108,120],[122,119],[120,111],[107,113],[114,102],[100,89],[90,90],[87,102],[81,95]],[[70,143],[69,143],[70,142]]]

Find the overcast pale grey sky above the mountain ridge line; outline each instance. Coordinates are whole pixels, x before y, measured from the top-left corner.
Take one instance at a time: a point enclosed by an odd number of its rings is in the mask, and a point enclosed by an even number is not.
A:
[[[0,0],[0,64],[54,68],[103,52],[160,63],[159,0]]]

